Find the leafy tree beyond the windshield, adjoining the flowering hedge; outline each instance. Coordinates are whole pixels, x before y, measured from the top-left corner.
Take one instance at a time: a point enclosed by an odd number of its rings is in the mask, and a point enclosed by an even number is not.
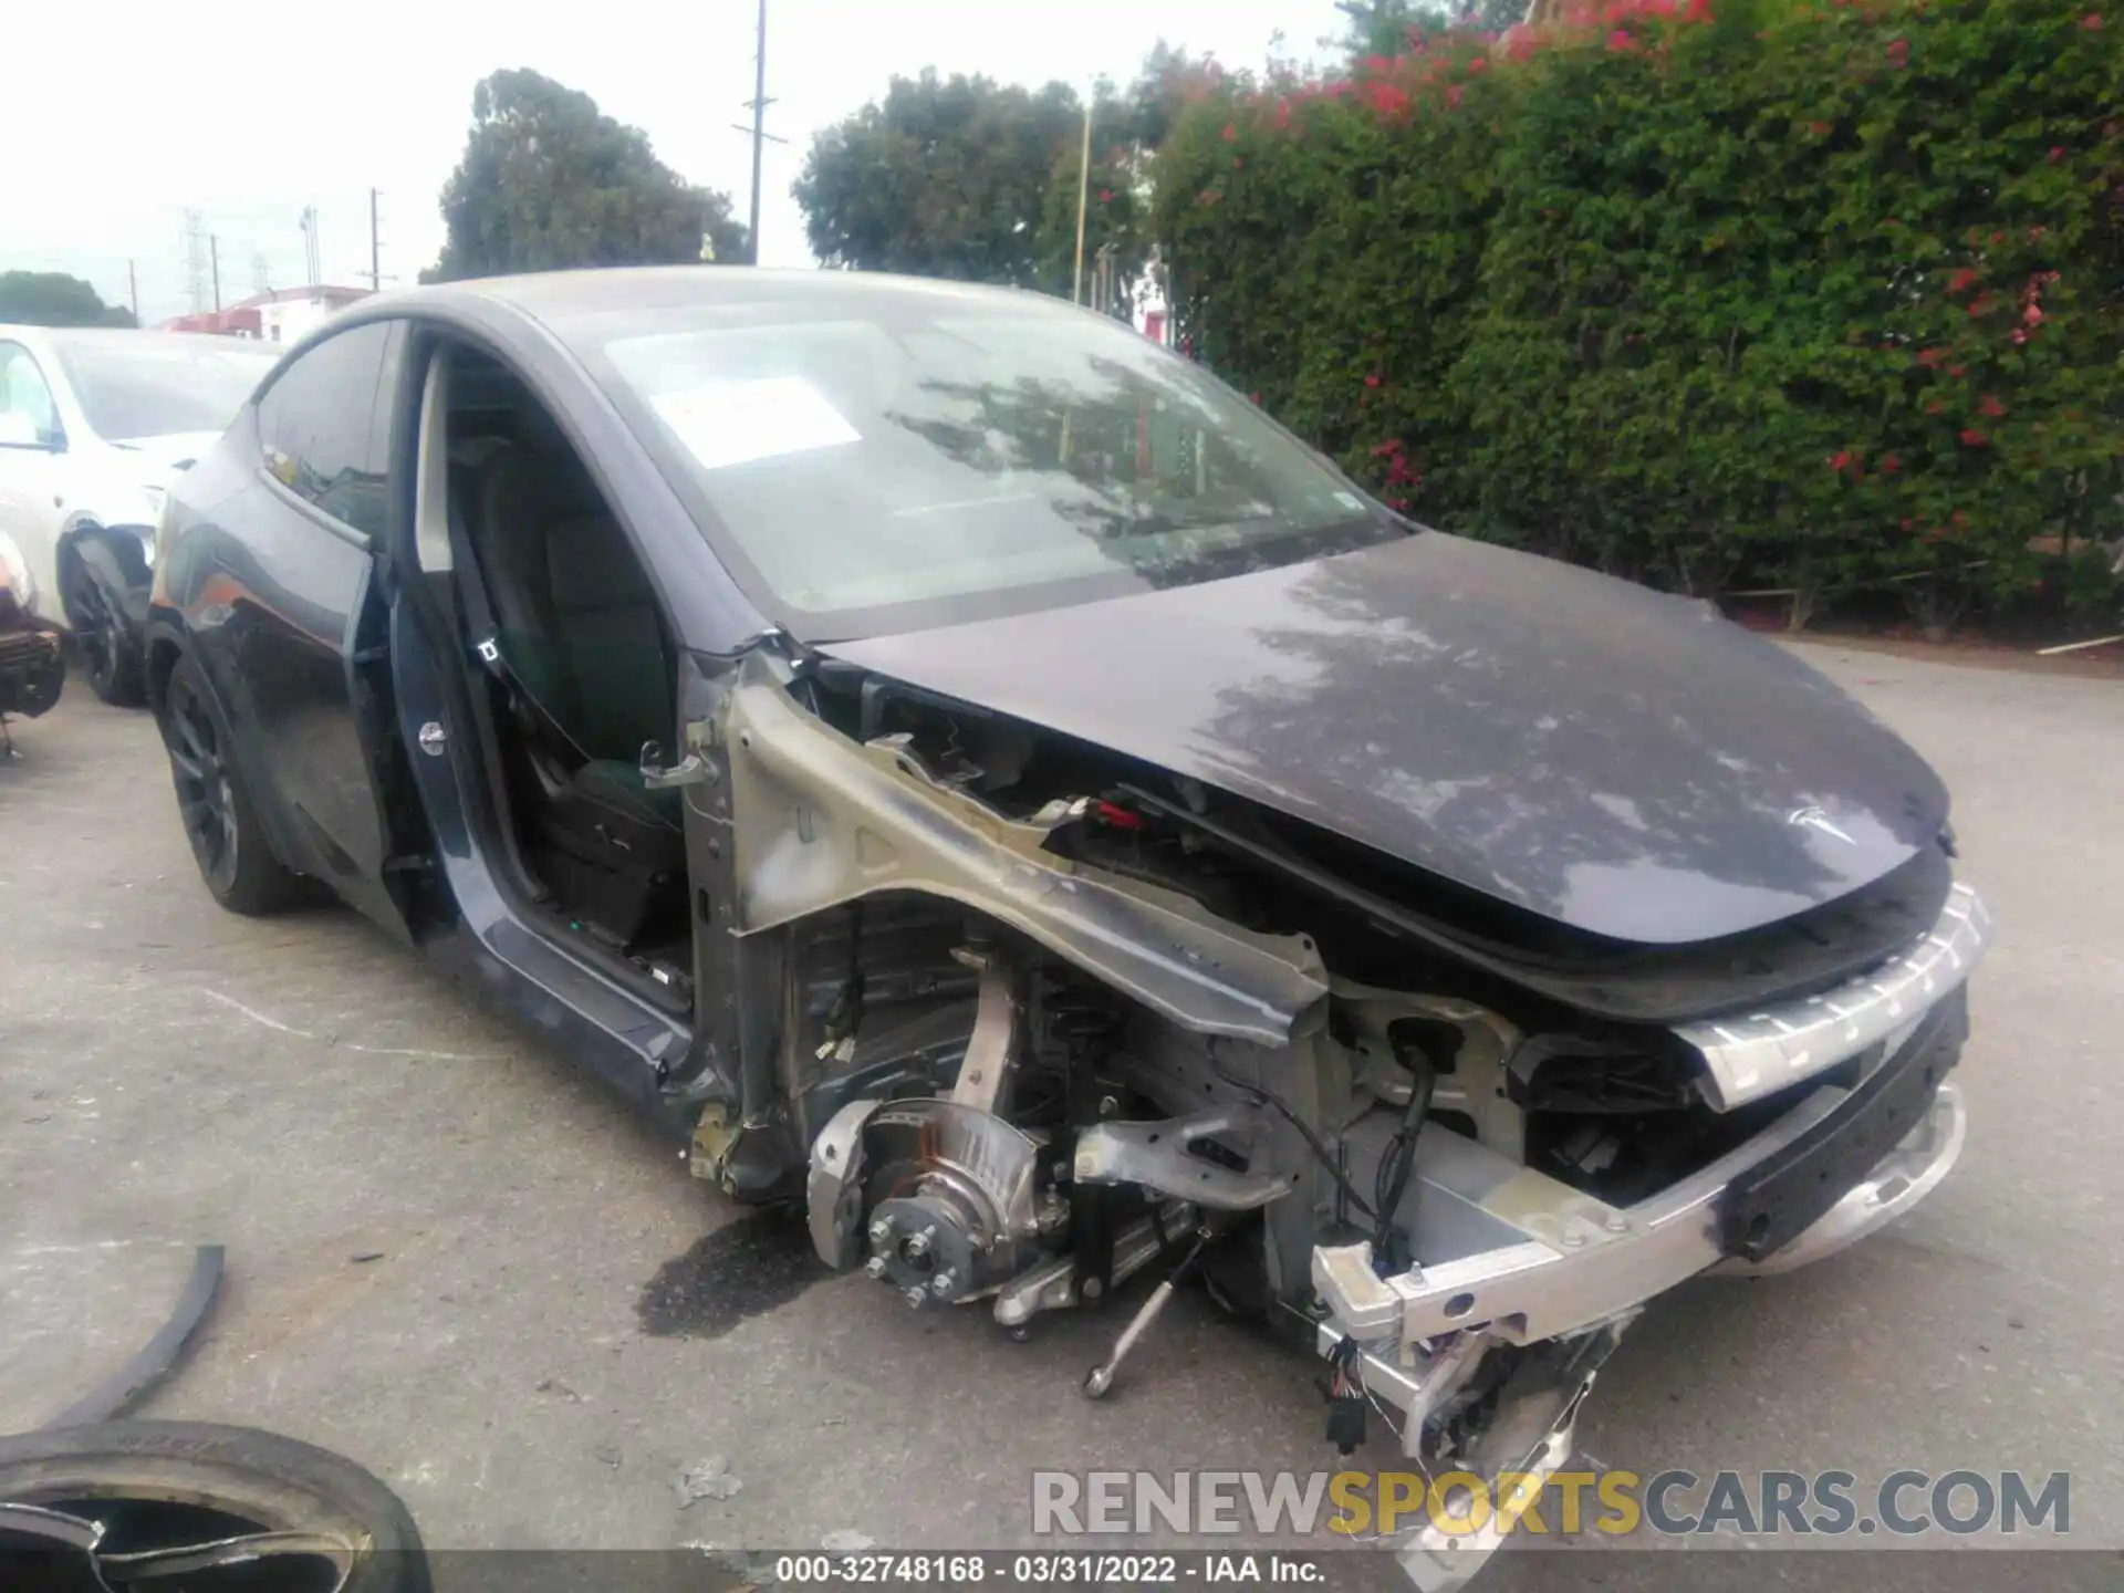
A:
[[[1085,270],[1111,244],[1128,282],[1147,255],[1143,142],[1138,106],[1109,83],[1092,140]],[[826,127],[794,191],[828,266],[1068,293],[1081,157],[1083,102],[1066,83],[924,72]]]

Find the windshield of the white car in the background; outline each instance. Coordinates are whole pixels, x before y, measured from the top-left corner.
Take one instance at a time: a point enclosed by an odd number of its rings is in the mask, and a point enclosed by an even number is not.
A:
[[[59,342],[57,353],[89,429],[106,442],[223,431],[274,365],[266,350],[206,333]]]

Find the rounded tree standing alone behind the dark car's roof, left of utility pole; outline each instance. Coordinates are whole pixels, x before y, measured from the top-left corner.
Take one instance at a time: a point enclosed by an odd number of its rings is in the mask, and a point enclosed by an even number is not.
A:
[[[423,280],[573,266],[746,261],[731,198],[692,187],[590,96],[529,70],[472,91],[465,157],[442,189],[446,240]]]

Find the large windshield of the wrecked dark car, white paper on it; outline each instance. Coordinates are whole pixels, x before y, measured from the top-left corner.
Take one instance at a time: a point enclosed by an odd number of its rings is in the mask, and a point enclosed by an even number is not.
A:
[[[1172,586],[1393,533],[1251,404],[1121,323],[920,295],[835,310],[731,306],[712,329],[603,348],[784,610]],[[932,620],[979,612],[996,607]]]

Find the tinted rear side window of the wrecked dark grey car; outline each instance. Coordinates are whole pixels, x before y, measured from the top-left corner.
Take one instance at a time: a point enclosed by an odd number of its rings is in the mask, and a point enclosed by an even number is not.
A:
[[[327,338],[259,399],[266,469],[333,520],[382,535],[391,427],[382,393],[391,325]]]

